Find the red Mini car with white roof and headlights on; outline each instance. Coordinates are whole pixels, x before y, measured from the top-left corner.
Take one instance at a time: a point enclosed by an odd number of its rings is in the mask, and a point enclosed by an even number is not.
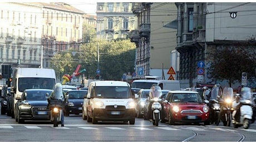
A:
[[[210,124],[210,109],[196,91],[169,91],[164,101],[165,120],[170,125],[176,122]]]

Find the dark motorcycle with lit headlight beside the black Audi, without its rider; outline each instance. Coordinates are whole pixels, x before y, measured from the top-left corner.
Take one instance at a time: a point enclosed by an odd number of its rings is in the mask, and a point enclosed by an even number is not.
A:
[[[57,127],[61,124],[62,115],[62,101],[61,100],[50,100],[50,121],[53,123],[53,127]]]

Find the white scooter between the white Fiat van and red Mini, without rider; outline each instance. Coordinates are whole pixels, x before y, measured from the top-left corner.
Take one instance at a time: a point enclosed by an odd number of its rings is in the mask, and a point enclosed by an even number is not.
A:
[[[162,106],[160,104],[161,99],[159,99],[158,97],[154,97],[154,99],[151,99],[151,101],[154,101],[151,106],[151,109],[153,112],[152,124],[155,126],[158,126],[159,121],[161,120],[161,110],[162,110]]]

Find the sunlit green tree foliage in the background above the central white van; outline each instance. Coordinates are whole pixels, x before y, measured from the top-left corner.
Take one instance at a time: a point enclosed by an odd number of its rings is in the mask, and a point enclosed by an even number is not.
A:
[[[86,77],[95,78],[98,49],[101,79],[120,80],[122,74],[134,72],[136,50],[134,43],[129,39],[111,41],[96,39],[96,33],[92,32],[94,28],[84,26],[83,42],[85,43],[80,45],[79,52],[76,52],[75,56],[71,53],[72,49],[53,56],[51,62],[57,75],[72,74],[76,66],[81,64],[80,69],[86,69]]]

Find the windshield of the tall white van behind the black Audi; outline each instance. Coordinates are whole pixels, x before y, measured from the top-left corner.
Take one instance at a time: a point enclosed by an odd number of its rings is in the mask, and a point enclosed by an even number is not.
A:
[[[54,89],[55,79],[50,78],[19,78],[18,90],[23,92],[26,89]]]

